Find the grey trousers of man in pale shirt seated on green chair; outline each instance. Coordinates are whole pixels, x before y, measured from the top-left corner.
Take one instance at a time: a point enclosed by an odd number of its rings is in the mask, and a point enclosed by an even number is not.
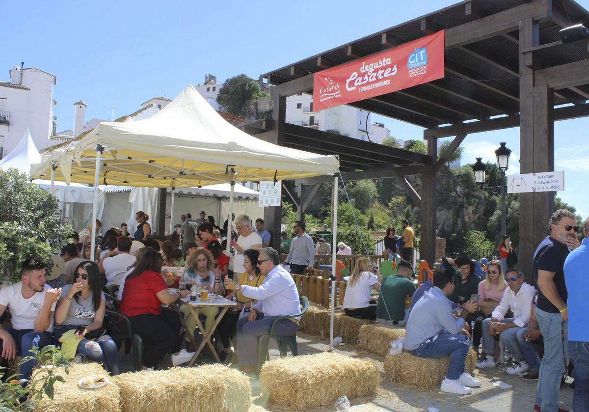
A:
[[[270,326],[275,318],[273,316],[264,318],[264,314],[257,314],[253,322],[249,322],[247,317],[237,321],[237,361],[240,366],[258,366],[258,337],[270,332]],[[283,319],[276,323],[274,334],[292,336],[296,334],[298,327],[296,323]]]

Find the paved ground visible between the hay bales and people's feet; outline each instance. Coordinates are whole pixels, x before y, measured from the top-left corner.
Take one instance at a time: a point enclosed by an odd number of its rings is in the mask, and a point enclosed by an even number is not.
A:
[[[299,334],[297,337],[300,354],[312,354],[329,349],[327,341],[321,341],[318,337],[306,334]],[[341,351],[352,357],[366,358],[376,361],[382,371],[382,358],[372,355],[369,352],[358,350],[353,345],[342,345],[337,347]],[[270,357],[278,356],[276,348],[270,350]],[[132,370],[130,357],[122,356],[121,365],[124,371]],[[211,362],[210,357],[201,358],[203,362]],[[162,367],[171,366],[168,357]],[[478,370],[475,377],[482,381],[480,388],[474,388],[470,395],[451,395],[439,390],[416,390],[392,384],[387,381],[381,381],[380,387],[375,396],[356,398],[350,400],[350,412],[363,411],[426,411],[428,407],[438,408],[441,412],[446,411],[531,411],[534,406],[534,394],[536,382],[527,382],[519,377],[514,377],[500,369]],[[510,389],[500,389],[494,387],[491,382],[501,380],[512,385]],[[342,394],[345,395],[345,394]],[[568,385],[560,390],[560,407],[572,411],[573,390]],[[269,403],[267,394],[254,393],[254,407],[252,412],[256,411],[276,411],[283,412],[283,408],[273,407]],[[313,412],[331,412],[336,408],[333,405],[322,408],[315,408]]]

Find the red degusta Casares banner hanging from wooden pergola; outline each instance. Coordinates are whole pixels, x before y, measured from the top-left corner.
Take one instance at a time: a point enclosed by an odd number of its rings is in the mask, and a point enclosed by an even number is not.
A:
[[[352,103],[444,77],[444,30],[315,73],[313,108]]]

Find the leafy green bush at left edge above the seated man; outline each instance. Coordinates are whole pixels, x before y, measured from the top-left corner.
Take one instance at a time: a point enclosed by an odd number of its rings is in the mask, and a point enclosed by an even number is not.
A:
[[[16,169],[0,170],[0,273],[4,282],[18,282],[26,259],[51,262],[72,232],[61,222],[57,198],[31,184]]]

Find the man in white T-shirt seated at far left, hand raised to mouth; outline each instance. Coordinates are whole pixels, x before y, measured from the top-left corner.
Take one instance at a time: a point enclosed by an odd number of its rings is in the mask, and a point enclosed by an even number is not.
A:
[[[74,246],[75,247],[75,246]],[[21,281],[0,289],[0,316],[6,308],[12,315],[12,328],[0,325],[2,358],[26,357],[33,347],[52,345],[53,314],[61,296],[61,288],[45,285],[45,264],[26,261],[21,270]],[[29,379],[37,361],[21,364],[21,378]]]

